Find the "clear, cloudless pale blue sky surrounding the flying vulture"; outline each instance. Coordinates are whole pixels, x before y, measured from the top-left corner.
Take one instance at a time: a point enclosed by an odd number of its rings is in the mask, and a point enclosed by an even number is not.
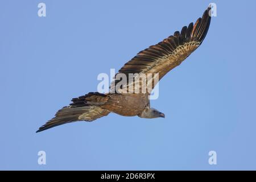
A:
[[[195,22],[210,2],[1,2],[0,169],[256,169],[253,0],[214,1],[203,44],[151,102],[165,119],[109,114],[35,133],[71,98],[96,91],[98,73]]]

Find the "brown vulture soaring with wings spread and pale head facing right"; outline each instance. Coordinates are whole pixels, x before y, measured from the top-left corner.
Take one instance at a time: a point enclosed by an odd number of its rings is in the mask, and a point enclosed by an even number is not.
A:
[[[203,42],[207,35],[211,19],[211,8],[204,11],[196,23],[184,26],[181,31],[175,31],[162,42],[150,46],[139,52],[128,61],[118,73],[129,77],[130,73],[146,74],[157,73],[158,81],[173,68],[184,61]],[[117,73],[117,75],[118,75]],[[114,77],[112,84],[118,84],[121,80]],[[94,121],[109,113],[123,116],[136,116],[141,118],[164,118],[160,111],[150,107],[150,90],[146,93],[127,93],[127,89],[134,85],[135,80],[129,80],[114,92],[98,93],[90,92],[84,96],[73,98],[69,106],[65,106],[55,114],[55,117],[41,126],[36,133],[50,129],[51,127],[71,123],[75,121]],[[153,87],[157,84],[154,81]],[[112,87],[113,88],[113,87]],[[113,91],[110,89],[110,91]]]

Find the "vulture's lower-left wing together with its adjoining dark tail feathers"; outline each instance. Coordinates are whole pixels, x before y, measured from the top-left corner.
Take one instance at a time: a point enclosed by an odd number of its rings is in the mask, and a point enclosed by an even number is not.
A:
[[[71,123],[75,121],[94,121],[110,113],[101,109],[101,105],[108,102],[109,96],[98,92],[90,92],[85,96],[72,99],[72,104],[65,106],[55,114],[55,117],[41,126],[36,133],[50,129],[51,127]]]

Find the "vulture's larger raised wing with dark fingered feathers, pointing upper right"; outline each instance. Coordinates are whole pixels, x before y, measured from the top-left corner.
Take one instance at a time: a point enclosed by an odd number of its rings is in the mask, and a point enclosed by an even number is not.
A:
[[[129,86],[135,85],[133,78],[129,80],[129,77],[131,77],[129,73],[138,73],[138,75],[148,75],[148,73],[151,73],[152,77],[154,77],[155,73],[158,73],[158,80],[160,80],[171,69],[180,65],[183,60],[201,45],[207,35],[211,19],[209,15],[210,10],[210,7],[208,7],[202,18],[197,19],[195,25],[190,23],[188,27],[183,27],[181,32],[176,31],[174,35],[169,36],[155,46],[144,49],[123,65],[118,73],[126,75],[127,84],[122,85],[120,89],[115,91],[126,93],[129,90]],[[115,85],[121,81],[116,78],[113,82]],[[157,82],[157,80],[155,82],[153,80],[152,86],[154,87]],[[112,89],[114,89],[113,85],[111,87]]]

